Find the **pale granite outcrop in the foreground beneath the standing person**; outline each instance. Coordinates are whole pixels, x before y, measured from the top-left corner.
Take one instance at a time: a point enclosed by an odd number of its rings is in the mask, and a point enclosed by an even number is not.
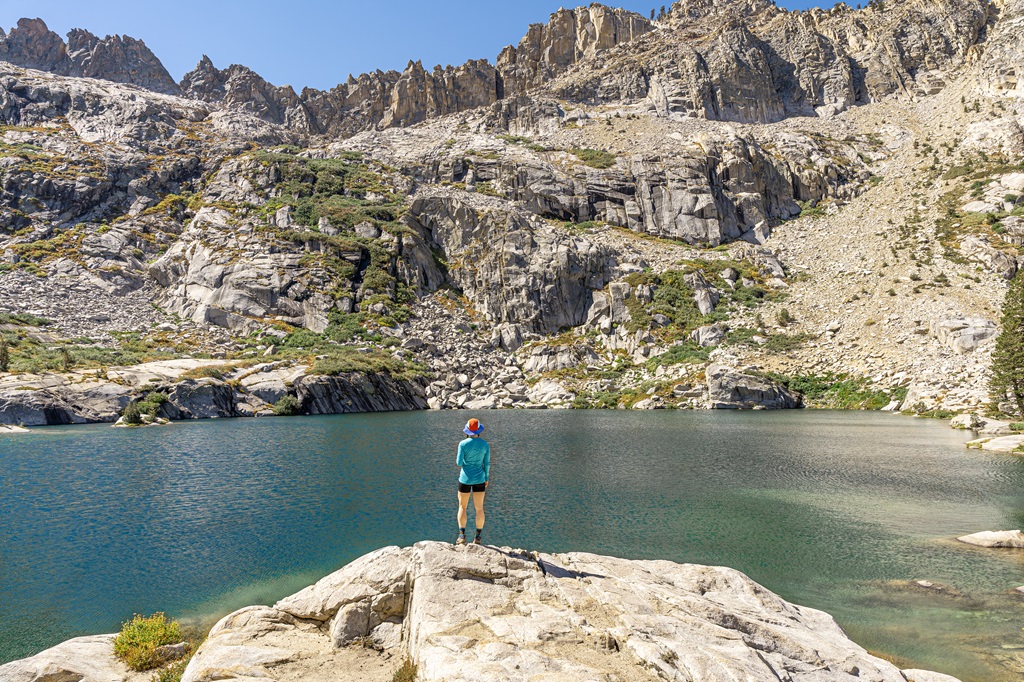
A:
[[[112,639],[72,640],[0,676],[131,680]],[[827,613],[730,568],[435,542],[378,550],[225,616],[181,679],[386,682],[407,657],[424,681],[955,682],[870,655]]]

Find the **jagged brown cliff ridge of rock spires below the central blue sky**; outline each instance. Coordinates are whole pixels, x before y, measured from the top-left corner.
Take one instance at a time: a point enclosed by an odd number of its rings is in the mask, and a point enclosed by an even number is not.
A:
[[[352,135],[373,128],[404,127],[524,94],[572,65],[651,30],[639,14],[601,5],[559,10],[551,23],[529,28],[518,48],[508,47],[497,68],[485,59],[459,67],[410,61],[402,73],[362,74],[330,91],[300,95],[278,88],[245,67],[218,71],[204,57],[185,75],[182,91],[204,101],[252,112],[273,123],[313,134]]]

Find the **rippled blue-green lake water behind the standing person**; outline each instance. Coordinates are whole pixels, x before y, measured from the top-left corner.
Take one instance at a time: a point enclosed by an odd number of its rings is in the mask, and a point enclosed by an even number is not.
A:
[[[724,564],[899,663],[1017,679],[1024,462],[871,413],[499,412],[485,541]],[[58,427],[0,438],[0,662],[209,622],[384,545],[455,539],[465,414]],[[901,582],[929,580],[945,593]],[[955,592],[954,592],[955,590]],[[1019,672],[1019,670],[1018,670]]]

